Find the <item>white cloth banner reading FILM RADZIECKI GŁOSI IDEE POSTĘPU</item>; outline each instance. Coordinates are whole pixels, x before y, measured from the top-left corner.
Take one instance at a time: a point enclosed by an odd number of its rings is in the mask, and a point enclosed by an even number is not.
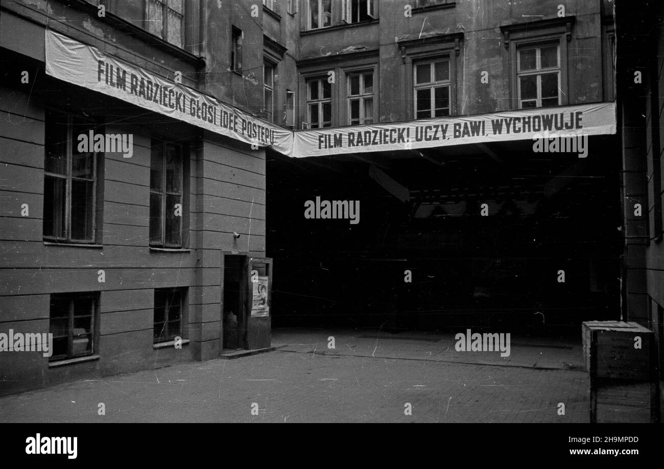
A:
[[[197,127],[290,155],[293,133],[141,70],[98,48],[46,30],[46,73]]]

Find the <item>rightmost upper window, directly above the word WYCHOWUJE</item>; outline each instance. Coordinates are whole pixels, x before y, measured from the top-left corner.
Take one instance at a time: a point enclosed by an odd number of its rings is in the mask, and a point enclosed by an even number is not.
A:
[[[560,104],[560,46],[523,44],[517,49],[519,107]]]

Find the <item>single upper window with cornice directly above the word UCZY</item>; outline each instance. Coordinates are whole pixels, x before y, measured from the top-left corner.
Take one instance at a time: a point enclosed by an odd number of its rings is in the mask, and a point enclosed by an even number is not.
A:
[[[450,115],[450,60],[415,62],[413,72],[416,119]]]

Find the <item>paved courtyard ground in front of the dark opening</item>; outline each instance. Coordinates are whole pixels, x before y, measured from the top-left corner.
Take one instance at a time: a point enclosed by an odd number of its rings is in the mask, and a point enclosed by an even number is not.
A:
[[[433,352],[448,346],[440,338],[432,342],[408,334],[410,338],[381,340],[378,334],[376,340],[371,334],[337,332],[337,349],[321,354],[333,334],[276,331],[273,344],[288,346],[274,352],[114,377],[91,375],[83,381],[2,397],[0,421],[568,423],[589,419],[588,375],[564,365],[576,356],[573,349],[531,344],[533,356],[558,354],[559,369],[465,364],[429,358],[427,352],[435,357]],[[102,402],[106,415],[100,416]],[[559,402],[566,405],[564,416],[557,415]],[[251,414],[252,403],[258,404],[258,415]],[[412,416],[404,415],[405,403],[412,405]]]

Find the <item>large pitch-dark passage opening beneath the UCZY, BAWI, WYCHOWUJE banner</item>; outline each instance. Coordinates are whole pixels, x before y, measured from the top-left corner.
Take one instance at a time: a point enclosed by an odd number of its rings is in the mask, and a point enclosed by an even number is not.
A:
[[[589,147],[268,155],[274,325],[544,334],[620,318],[620,154],[616,137]],[[359,200],[359,223],[305,219],[316,197]]]

